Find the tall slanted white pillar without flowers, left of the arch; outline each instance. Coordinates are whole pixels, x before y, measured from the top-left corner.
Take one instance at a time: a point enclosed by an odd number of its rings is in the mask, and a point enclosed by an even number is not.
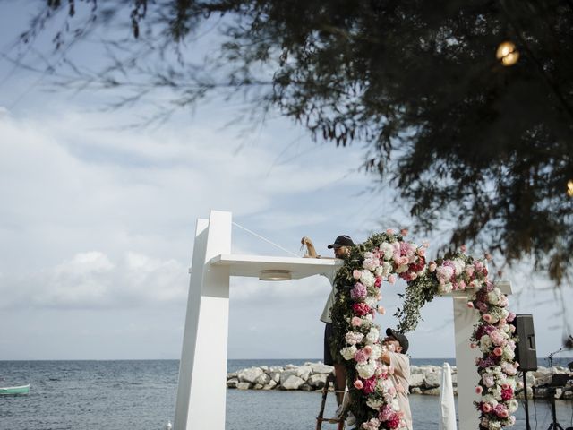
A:
[[[175,430],[225,429],[229,269],[209,262],[230,253],[231,213],[211,211],[195,232]]]

